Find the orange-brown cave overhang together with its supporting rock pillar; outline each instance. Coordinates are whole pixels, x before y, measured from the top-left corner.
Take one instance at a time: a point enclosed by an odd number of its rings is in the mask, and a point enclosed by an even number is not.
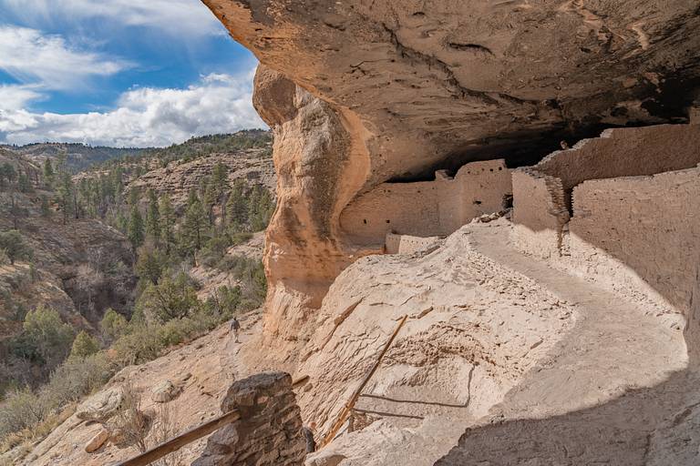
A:
[[[530,165],[601,127],[683,122],[700,83],[688,0],[203,1],[262,62],[280,198],[266,329],[289,339],[376,251],[340,223],[358,195],[473,160]]]

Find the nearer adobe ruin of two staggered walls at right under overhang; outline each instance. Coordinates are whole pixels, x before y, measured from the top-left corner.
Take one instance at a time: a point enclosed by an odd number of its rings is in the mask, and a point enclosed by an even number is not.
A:
[[[690,309],[700,263],[692,259],[700,256],[698,140],[696,125],[609,129],[514,170],[514,244]]]

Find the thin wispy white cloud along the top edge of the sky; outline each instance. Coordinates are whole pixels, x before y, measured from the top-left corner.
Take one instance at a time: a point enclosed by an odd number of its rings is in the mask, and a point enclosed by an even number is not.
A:
[[[171,35],[223,34],[219,21],[201,0],[4,0],[5,8],[28,22],[101,18],[132,26],[151,26]]]

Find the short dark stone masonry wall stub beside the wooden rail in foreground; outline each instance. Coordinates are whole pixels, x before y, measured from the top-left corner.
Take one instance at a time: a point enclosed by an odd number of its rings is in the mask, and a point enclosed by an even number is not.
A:
[[[192,466],[301,466],[306,456],[302,419],[284,372],[263,372],[234,382],[221,411],[241,419],[211,434]]]

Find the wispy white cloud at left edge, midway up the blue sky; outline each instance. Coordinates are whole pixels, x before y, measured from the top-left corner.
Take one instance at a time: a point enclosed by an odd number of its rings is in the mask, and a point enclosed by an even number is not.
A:
[[[70,89],[89,76],[114,75],[128,66],[125,61],[71,48],[59,35],[0,25],[0,69],[21,82]]]

